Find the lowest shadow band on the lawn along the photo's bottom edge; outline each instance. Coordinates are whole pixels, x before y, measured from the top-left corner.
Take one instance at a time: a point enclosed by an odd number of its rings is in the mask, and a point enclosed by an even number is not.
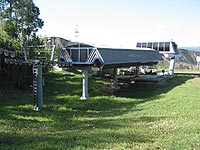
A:
[[[95,130],[95,129],[94,129]],[[82,134],[81,134],[82,133]],[[81,134],[81,135],[80,135]],[[148,143],[153,139],[149,135],[144,137],[142,134],[120,134],[117,132],[97,132],[93,134],[87,134],[86,132],[75,132],[64,134],[54,133],[42,133],[42,134],[29,134],[27,136],[20,134],[8,134],[0,133],[1,148],[5,149],[117,149],[117,145],[121,145],[120,148],[123,148],[124,142],[127,142],[130,145],[132,143]],[[124,148],[129,148],[126,146]]]

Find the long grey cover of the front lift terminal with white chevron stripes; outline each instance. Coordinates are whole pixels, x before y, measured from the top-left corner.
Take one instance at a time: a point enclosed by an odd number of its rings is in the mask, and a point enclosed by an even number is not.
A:
[[[153,65],[162,60],[158,51],[151,49],[94,48],[88,62],[98,61],[104,68]]]

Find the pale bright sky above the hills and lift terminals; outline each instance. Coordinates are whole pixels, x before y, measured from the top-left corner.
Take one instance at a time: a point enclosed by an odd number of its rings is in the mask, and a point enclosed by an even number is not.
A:
[[[34,0],[44,27],[39,35],[135,47],[173,39],[200,46],[200,0]],[[75,38],[78,25],[79,37]]]

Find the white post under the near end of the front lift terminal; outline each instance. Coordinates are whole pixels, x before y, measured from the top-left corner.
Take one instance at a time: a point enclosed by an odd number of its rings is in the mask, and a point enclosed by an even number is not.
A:
[[[88,95],[88,69],[83,69],[82,70],[82,77],[83,77],[83,91],[82,91],[82,96],[81,96],[81,100],[87,100],[89,99],[89,95]]]

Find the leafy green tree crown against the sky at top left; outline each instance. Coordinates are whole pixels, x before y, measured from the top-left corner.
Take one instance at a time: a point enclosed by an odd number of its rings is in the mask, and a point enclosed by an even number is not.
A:
[[[22,46],[42,43],[36,32],[44,22],[39,18],[40,10],[32,0],[3,0],[0,10],[1,47],[21,51]]]

